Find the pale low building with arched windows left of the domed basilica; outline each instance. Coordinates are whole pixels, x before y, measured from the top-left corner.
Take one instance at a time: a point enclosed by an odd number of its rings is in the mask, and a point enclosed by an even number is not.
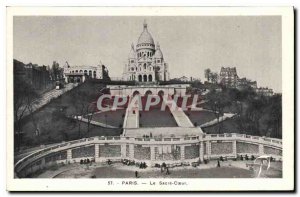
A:
[[[107,79],[108,70],[100,62],[97,66],[70,66],[68,62],[64,65],[64,78],[66,83],[84,82],[87,78]]]

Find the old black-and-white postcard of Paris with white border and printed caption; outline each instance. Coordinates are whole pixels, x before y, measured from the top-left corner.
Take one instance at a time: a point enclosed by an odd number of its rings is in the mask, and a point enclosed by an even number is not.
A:
[[[293,191],[292,7],[8,7],[9,191]]]

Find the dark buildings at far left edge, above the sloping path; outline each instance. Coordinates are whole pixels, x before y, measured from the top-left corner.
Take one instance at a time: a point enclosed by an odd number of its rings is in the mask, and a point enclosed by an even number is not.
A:
[[[50,72],[44,65],[24,64],[14,60],[14,77],[24,80],[38,91],[43,91],[52,86]]]

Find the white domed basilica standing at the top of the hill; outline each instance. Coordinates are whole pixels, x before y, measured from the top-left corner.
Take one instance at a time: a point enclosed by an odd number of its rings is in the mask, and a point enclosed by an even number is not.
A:
[[[138,82],[169,80],[168,64],[164,60],[160,45],[154,44],[146,22],[136,47],[131,45],[128,63],[125,64],[123,71],[123,80]]]

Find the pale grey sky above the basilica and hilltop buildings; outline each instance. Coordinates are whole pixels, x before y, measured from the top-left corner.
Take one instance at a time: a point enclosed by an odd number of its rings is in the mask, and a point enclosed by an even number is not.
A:
[[[148,30],[170,77],[236,67],[239,77],[282,91],[280,16],[15,16],[13,57],[24,63],[107,66],[121,77],[131,44]]]

